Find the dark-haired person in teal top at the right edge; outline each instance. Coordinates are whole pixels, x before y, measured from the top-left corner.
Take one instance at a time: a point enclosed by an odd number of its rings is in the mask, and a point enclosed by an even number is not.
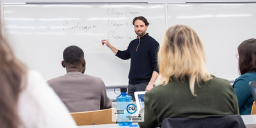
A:
[[[249,82],[256,81],[256,39],[244,40],[237,50],[241,76],[236,79],[233,88],[237,95],[240,115],[250,115],[254,100]]]

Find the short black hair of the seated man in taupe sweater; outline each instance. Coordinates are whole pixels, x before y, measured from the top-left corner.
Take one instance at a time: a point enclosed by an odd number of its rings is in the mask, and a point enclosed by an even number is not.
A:
[[[81,62],[84,59],[84,52],[75,45],[68,46],[63,51],[63,60],[65,63]]]

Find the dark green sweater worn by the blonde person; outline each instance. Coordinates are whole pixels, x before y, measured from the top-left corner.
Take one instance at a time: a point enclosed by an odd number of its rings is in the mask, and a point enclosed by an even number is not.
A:
[[[193,96],[189,83],[170,81],[145,94],[144,122],[141,128],[160,127],[164,118],[205,118],[239,114],[237,97],[225,79],[213,77],[207,83],[195,85]]]

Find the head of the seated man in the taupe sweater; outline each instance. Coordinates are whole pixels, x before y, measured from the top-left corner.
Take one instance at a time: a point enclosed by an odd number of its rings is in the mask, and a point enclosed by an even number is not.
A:
[[[66,68],[67,72],[82,72],[85,70],[84,52],[75,45],[67,47],[63,51],[63,61],[61,65]]]

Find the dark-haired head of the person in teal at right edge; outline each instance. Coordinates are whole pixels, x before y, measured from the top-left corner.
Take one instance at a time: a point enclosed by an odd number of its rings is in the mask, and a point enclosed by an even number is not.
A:
[[[244,40],[237,48],[241,75],[256,72],[256,39]]]

